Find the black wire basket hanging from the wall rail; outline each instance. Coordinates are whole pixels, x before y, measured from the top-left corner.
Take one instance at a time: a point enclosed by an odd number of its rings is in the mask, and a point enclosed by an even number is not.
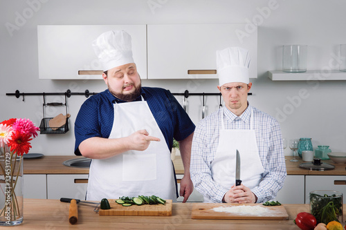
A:
[[[67,113],[67,95],[65,94],[65,104],[61,103],[61,102],[50,102],[50,103],[46,103],[46,95],[43,93],[43,97],[44,97],[44,103],[42,106],[42,111],[43,111],[43,118],[41,120],[41,124],[39,125],[39,132],[40,134],[64,134],[67,131],[69,131],[69,113]],[[62,121],[61,126],[58,125],[57,127],[55,126],[50,126],[50,121],[55,118],[55,117],[46,117],[45,115],[45,106],[65,106],[66,109],[66,115],[57,115],[56,118],[60,119],[60,121]],[[64,118],[62,118],[62,116],[64,116]],[[66,117],[66,118],[65,118]],[[62,119],[61,119],[62,118]],[[64,120],[66,119],[66,120]],[[60,122],[51,122],[52,124],[60,124]]]

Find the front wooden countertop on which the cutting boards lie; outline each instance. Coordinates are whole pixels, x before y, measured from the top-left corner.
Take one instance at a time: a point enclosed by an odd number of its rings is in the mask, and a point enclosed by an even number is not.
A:
[[[192,220],[192,203],[174,203],[172,216],[159,217],[98,215],[93,205],[78,204],[78,222],[70,224],[69,203],[24,199],[24,222],[11,229],[299,229],[293,220],[298,213],[309,212],[309,204],[284,207],[289,220]]]

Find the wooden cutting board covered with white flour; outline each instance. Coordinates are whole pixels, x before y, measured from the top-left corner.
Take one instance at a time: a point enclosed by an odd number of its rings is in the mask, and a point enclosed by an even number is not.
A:
[[[262,207],[264,209],[255,213],[250,206],[255,209],[261,209]],[[215,211],[215,208],[219,207],[231,208],[232,213]],[[192,204],[192,219],[288,220],[289,214],[287,214],[283,205],[194,203]]]

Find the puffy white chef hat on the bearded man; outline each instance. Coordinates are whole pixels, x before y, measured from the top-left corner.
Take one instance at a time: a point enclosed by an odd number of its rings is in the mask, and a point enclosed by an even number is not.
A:
[[[93,41],[92,46],[104,71],[134,62],[131,36],[123,30],[104,32]]]

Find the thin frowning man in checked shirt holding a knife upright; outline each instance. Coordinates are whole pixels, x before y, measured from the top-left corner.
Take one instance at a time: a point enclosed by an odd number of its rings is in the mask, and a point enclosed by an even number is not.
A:
[[[280,125],[247,100],[250,61],[244,48],[217,50],[217,88],[225,106],[197,125],[192,141],[190,173],[204,202],[272,200],[286,178]],[[235,186],[237,150],[242,184]]]

